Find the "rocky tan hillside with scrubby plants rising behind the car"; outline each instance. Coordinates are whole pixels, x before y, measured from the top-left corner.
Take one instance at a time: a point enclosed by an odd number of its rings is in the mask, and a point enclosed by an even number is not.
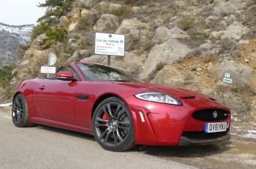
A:
[[[211,95],[233,111],[233,120],[255,122],[255,1],[75,1],[61,17],[67,42],[47,47],[40,35],[26,51],[15,79],[44,76],[48,52],[57,67],[72,61],[107,63],[94,55],[94,32],[124,34],[126,55],[111,66],[148,82]]]

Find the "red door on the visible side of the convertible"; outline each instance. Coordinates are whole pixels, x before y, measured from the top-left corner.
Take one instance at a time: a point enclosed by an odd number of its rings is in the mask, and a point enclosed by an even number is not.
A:
[[[42,79],[37,84],[35,100],[41,115],[75,120],[75,92],[78,81]]]

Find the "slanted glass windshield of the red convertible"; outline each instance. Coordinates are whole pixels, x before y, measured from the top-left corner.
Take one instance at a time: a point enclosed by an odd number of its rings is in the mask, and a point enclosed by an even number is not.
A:
[[[132,75],[126,74],[116,68],[94,64],[77,64],[86,81],[104,81],[104,82],[140,82]]]

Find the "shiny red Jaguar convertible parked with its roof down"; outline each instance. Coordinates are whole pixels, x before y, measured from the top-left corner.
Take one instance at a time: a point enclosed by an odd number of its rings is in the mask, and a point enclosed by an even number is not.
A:
[[[94,135],[110,151],[135,144],[187,146],[230,139],[230,109],[200,93],[141,82],[109,66],[71,63],[55,78],[21,82],[17,127],[49,125]]]

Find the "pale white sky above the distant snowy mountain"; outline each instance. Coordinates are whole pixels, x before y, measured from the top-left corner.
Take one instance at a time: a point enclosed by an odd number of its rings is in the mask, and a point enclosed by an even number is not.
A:
[[[0,23],[7,25],[37,24],[45,8],[37,7],[45,0],[0,0]]]

